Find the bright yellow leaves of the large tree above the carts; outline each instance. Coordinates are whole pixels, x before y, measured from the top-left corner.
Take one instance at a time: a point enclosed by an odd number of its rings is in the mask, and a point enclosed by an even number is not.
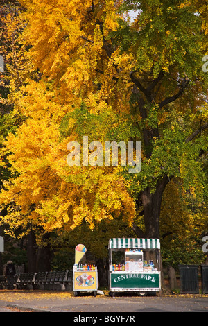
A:
[[[173,94],[177,98],[177,92],[187,85],[187,79],[184,78],[186,74],[195,78],[196,67],[191,66],[190,53],[196,45],[191,36],[190,40],[187,36],[193,35],[191,26],[186,25],[186,35],[181,35],[179,25],[177,28],[172,23],[171,26],[165,26],[162,8],[159,8],[158,3],[155,10],[152,3],[148,6],[143,1],[142,17],[137,15],[131,25],[133,31],[127,28],[128,33],[123,37],[125,28],[122,24],[119,26],[119,19],[125,22],[125,14],[118,10],[123,1],[19,2],[25,11],[18,19],[25,22],[25,28],[21,33],[22,47],[17,58],[21,54],[25,55],[26,68],[22,67],[21,78],[24,83],[21,83],[21,87],[16,85],[17,76],[11,74],[10,89],[14,114],[21,114],[24,122],[17,133],[9,135],[5,142],[5,153],[12,153],[8,156],[8,162],[15,178],[6,182],[1,192],[0,204],[8,205],[8,214],[2,221],[12,225],[12,230],[19,225],[24,230],[27,225],[33,228],[38,225],[46,232],[62,228],[74,230],[82,223],[87,223],[93,230],[96,223],[115,218],[123,218],[128,225],[132,225],[136,216],[134,191],[139,194],[142,187],[149,189],[151,182],[156,184],[159,178],[163,178],[163,171],[167,169],[166,156],[169,162],[174,161],[169,155],[170,149],[167,149],[165,156],[162,151],[159,153],[156,145],[154,148],[153,143],[155,141],[156,144],[163,128],[166,128],[166,134],[171,135],[179,126],[177,119],[175,125],[171,121],[172,108],[169,106],[166,109],[164,99],[169,100]],[[205,7],[200,0],[198,3],[200,12],[205,15]],[[173,22],[174,15],[171,12],[186,7],[190,15],[189,1],[186,6],[166,8],[168,19]],[[10,35],[16,26],[12,26],[11,22],[8,16]],[[203,26],[206,28],[205,22]],[[115,31],[123,33],[122,40],[119,40],[119,33],[114,35]],[[184,44],[189,49],[184,49]],[[202,40],[198,38],[200,45]],[[197,51],[195,54],[198,56]],[[186,69],[188,72],[184,73]],[[133,82],[132,77],[136,82]],[[157,85],[157,90],[151,93],[154,85]],[[135,88],[134,102],[132,90]],[[150,91],[141,96],[143,89]],[[191,89],[194,89],[194,92],[190,91],[191,95],[196,97],[195,94],[199,94],[202,87],[194,85]],[[195,113],[198,108],[196,103],[202,103],[202,98],[199,96],[194,101]],[[83,103],[85,110],[81,111]],[[159,103],[163,105],[158,113]],[[173,112],[183,113],[186,110],[187,96],[184,96]],[[87,120],[87,114],[94,118],[94,124]],[[203,114],[207,118],[207,110]],[[184,115],[184,121],[186,118]],[[103,119],[103,125],[99,119]],[[191,127],[197,119],[193,117],[190,120]],[[79,121],[83,123],[80,126]],[[134,135],[128,133],[126,121],[137,128]],[[63,136],[61,126],[64,122],[67,128]],[[171,123],[170,128],[168,123]],[[121,175],[120,166],[99,166],[98,169],[97,166],[67,165],[67,144],[81,139],[79,128],[83,128],[82,132],[87,130],[91,139],[98,136],[98,139],[92,140],[99,140],[103,144],[105,136],[115,126],[120,127],[119,131],[116,130],[118,138],[125,136],[125,139],[135,140],[145,132],[148,135],[147,151],[142,151],[146,175],[141,177],[141,181],[135,181],[134,178],[126,181]],[[161,130],[158,130],[158,126]],[[156,129],[158,137],[155,137]],[[165,141],[162,145],[166,148]],[[154,157],[154,160],[148,153],[152,146],[156,153],[158,149],[158,157]],[[184,153],[179,164],[182,176],[187,173],[188,156]],[[194,166],[197,168],[197,163]],[[177,174],[174,164],[171,168],[173,174]],[[169,176],[169,171],[166,171],[166,175]],[[135,189],[130,189],[130,194],[128,188],[131,182],[135,182]],[[144,182],[142,187],[141,182]]]

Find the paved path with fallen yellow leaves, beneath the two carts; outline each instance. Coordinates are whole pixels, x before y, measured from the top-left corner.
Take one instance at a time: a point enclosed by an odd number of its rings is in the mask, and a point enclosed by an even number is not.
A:
[[[15,310],[16,309],[16,310]],[[158,297],[91,295],[73,297],[54,291],[2,291],[0,312],[208,312],[208,295],[170,295]]]

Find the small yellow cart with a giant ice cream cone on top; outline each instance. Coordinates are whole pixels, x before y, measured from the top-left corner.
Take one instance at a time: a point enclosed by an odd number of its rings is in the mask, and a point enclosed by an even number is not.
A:
[[[75,264],[73,265],[73,293],[92,292],[94,296],[98,289],[98,271],[92,264],[79,264],[87,249],[79,244],[75,249]]]

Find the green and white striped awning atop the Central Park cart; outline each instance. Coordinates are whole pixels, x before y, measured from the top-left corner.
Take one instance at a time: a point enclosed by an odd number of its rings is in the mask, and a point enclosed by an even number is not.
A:
[[[111,238],[108,243],[109,249],[138,248],[138,249],[160,249],[159,239],[145,238]]]

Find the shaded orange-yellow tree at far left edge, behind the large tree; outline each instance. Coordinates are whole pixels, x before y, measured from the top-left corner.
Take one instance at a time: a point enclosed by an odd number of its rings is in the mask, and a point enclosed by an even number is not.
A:
[[[19,87],[24,85],[30,63],[25,57],[25,47],[21,42],[21,31],[24,21],[20,19],[18,3],[15,1],[1,1],[0,7],[0,53],[3,57],[1,67],[0,86],[0,185],[8,180],[12,173],[8,169],[8,151],[3,142],[9,133],[14,133],[24,121],[22,114],[14,110],[14,101]],[[1,214],[4,214],[1,211]]]

